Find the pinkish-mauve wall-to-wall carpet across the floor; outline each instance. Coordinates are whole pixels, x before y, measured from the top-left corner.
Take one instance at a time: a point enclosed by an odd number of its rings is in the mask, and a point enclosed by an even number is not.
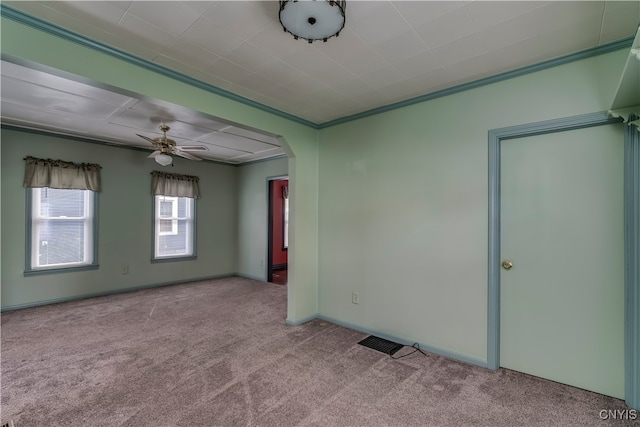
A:
[[[3,313],[2,423],[640,424],[601,419],[627,409],[617,399],[432,354],[393,360],[358,345],[366,334],[285,316],[286,286],[244,278]]]

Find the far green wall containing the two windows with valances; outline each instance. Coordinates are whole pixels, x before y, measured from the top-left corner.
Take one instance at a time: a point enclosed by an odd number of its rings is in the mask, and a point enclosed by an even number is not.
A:
[[[238,169],[174,159],[162,168],[144,151],[2,130],[2,304],[20,306],[137,286],[235,273]],[[25,156],[98,163],[98,270],[24,277]],[[197,260],[151,263],[152,170],[195,175]],[[129,274],[121,274],[123,264]]]

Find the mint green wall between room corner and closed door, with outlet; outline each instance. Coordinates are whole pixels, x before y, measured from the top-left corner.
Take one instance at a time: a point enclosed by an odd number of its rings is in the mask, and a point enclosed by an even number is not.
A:
[[[626,55],[321,130],[320,314],[486,360],[487,133],[606,110]]]

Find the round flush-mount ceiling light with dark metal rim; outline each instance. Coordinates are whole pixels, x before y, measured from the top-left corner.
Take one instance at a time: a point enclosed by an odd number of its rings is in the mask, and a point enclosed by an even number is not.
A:
[[[280,23],[296,40],[326,42],[344,28],[346,4],[345,0],[280,0]]]

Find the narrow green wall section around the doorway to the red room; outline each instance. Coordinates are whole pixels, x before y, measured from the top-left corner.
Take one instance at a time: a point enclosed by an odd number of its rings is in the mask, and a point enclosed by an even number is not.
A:
[[[288,175],[286,158],[238,168],[238,274],[267,279],[267,178]]]

